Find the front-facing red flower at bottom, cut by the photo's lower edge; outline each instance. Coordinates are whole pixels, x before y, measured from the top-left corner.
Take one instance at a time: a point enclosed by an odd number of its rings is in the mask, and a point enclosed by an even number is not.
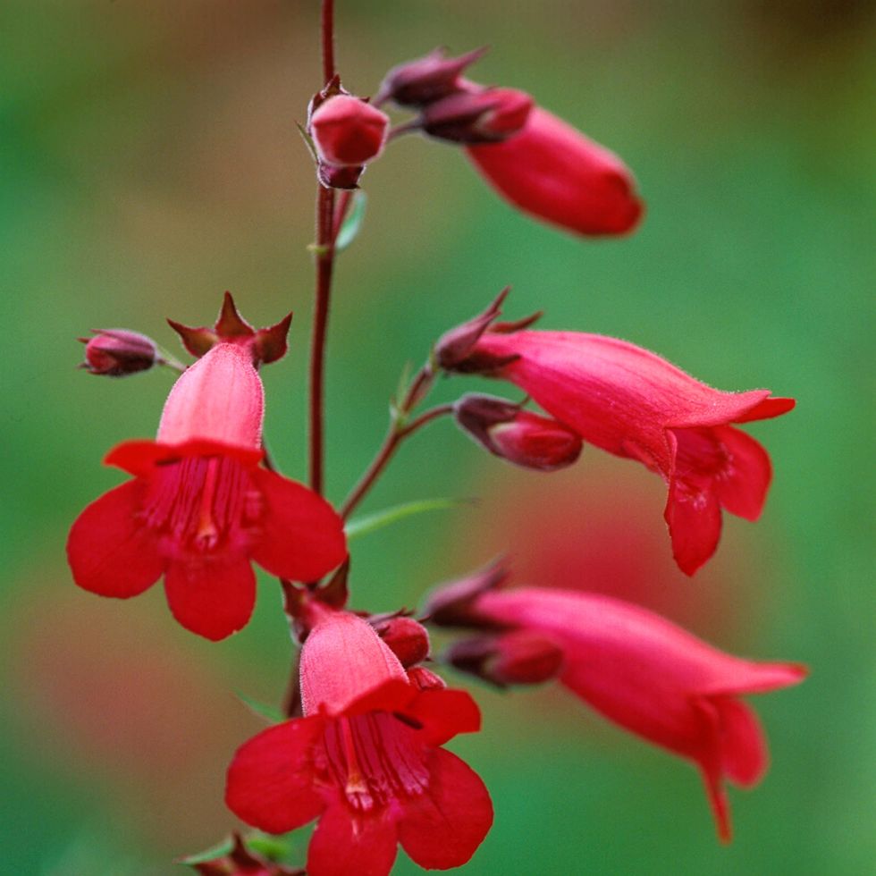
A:
[[[375,630],[322,610],[301,652],[304,717],[240,746],[225,802],[271,833],[318,818],[310,876],[385,876],[400,843],[426,869],[457,867],[493,822],[483,782],[441,747],[480,728],[463,691],[421,690]]]

